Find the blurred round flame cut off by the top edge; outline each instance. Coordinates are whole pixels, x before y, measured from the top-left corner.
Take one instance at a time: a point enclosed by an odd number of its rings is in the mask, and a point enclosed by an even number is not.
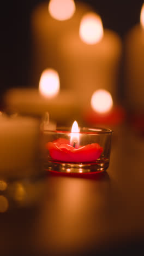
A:
[[[56,20],[68,20],[75,13],[74,0],[51,0],[49,13]]]

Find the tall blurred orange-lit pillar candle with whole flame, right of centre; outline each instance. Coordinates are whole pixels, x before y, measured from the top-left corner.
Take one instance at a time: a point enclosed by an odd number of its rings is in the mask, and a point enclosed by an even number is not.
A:
[[[80,95],[82,107],[90,102],[93,91],[97,89],[109,90],[116,99],[121,50],[117,34],[103,30],[101,19],[95,13],[84,15],[79,30],[61,38],[59,52],[62,54],[65,86],[69,84]]]

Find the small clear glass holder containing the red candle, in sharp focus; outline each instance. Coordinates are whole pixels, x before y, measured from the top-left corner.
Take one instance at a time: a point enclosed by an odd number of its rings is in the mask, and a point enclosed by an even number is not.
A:
[[[112,131],[83,127],[79,133],[59,127],[44,132],[45,170],[64,173],[103,172],[109,167]]]

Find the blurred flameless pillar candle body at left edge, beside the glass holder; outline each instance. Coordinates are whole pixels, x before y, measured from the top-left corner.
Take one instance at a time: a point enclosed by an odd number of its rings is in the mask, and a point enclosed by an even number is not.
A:
[[[0,176],[23,178],[40,172],[39,122],[32,118],[0,118]]]

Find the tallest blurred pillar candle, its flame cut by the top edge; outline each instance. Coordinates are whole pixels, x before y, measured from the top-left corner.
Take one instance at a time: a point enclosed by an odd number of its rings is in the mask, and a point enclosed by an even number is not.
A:
[[[59,40],[67,32],[78,29],[80,20],[91,8],[74,0],[51,0],[39,4],[31,16],[32,30],[32,84],[38,84],[41,72],[52,67],[59,73],[62,88],[65,80]],[[67,42],[64,43],[64,46]],[[63,77],[62,77],[63,75]],[[67,88],[68,85],[65,85]]]

